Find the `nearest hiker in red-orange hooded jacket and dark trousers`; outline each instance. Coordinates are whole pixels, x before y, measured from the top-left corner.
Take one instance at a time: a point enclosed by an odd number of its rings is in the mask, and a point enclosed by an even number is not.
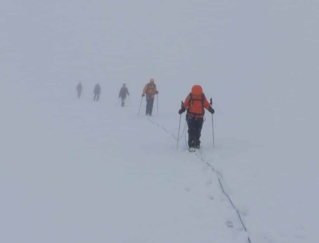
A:
[[[186,121],[188,125],[188,146],[190,150],[199,148],[200,136],[204,123],[205,110],[214,114],[215,111],[208,103],[203,89],[200,85],[194,85],[192,92],[187,95],[182,108],[178,111],[178,114],[182,114],[186,109]]]

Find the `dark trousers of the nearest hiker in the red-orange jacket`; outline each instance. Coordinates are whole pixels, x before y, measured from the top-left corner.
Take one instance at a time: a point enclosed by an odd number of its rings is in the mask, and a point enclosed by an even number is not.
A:
[[[200,135],[204,123],[204,118],[193,118],[186,116],[188,125],[188,146],[189,148],[199,148]]]

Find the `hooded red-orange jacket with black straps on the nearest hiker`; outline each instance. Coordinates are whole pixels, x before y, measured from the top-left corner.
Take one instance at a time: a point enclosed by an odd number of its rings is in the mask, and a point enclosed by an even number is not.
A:
[[[186,116],[203,118],[204,108],[208,110],[210,108],[210,104],[208,103],[206,96],[203,94],[202,87],[199,85],[194,85],[192,87],[192,92],[187,95],[184,101],[184,109],[187,110]]]

